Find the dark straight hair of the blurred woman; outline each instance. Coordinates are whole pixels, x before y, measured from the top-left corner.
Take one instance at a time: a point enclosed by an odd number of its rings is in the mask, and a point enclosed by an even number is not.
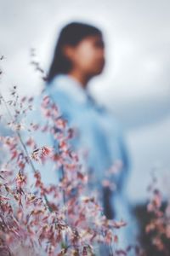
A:
[[[48,83],[54,79],[55,75],[68,73],[71,69],[71,61],[63,54],[63,46],[76,46],[83,38],[91,35],[102,36],[102,32],[95,26],[81,22],[71,22],[62,28],[54,49],[54,58],[48,71]]]

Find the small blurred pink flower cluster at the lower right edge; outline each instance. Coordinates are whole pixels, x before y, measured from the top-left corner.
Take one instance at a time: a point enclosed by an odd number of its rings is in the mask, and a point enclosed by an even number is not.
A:
[[[151,242],[161,255],[169,255],[170,250],[170,203],[159,189],[158,178],[152,174],[152,182],[148,188],[150,201],[147,211],[150,213],[150,222],[145,231],[150,235]]]

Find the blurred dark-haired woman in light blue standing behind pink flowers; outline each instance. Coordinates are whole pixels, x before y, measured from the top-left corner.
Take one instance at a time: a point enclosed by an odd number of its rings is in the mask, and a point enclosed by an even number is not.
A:
[[[75,151],[82,148],[88,153],[84,164],[88,166],[89,193],[98,191],[107,218],[128,222],[126,177],[129,158],[123,128],[109,110],[95,102],[88,91],[88,82],[102,73],[104,67],[102,32],[95,26],[71,22],[59,33],[45,91],[68,124],[77,129],[77,137],[71,141]],[[120,166],[121,171],[117,172]],[[111,189],[114,186],[116,190]],[[127,246],[127,228],[120,231],[120,247]],[[99,250],[97,255],[109,255],[105,246]]]

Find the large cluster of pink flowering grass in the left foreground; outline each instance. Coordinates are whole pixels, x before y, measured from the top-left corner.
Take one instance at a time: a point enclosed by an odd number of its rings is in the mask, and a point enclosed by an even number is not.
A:
[[[24,141],[18,120],[32,109],[33,98],[20,97],[16,87],[12,100],[1,105],[7,110],[5,119],[12,133],[0,137],[5,160],[0,170],[0,254],[1,255],[95,255],[95,247],[106,244],[111,255],[127,255],[116,249],[116,229],[124,221],[107,219],[94,196],[86,194],[88,175],[82,171],[79,156],[69,144],[74,131],[62,118],[59,108],[49,96],[42,98],[42,113],[46,125],[30,124],[31,131],[50,133],[56,148],[37,148],[35,138]],[[3,119],[3,118],[2,118]],[[30,153],[31,151],[31,153]],[[46,185],[34,162],[54,162],[61,172],[59,183]],[[31,183],[29,181],[32,172]],[[40,172],[41,171],[41,172]],[[50,175],[50,170],[49,174]]]

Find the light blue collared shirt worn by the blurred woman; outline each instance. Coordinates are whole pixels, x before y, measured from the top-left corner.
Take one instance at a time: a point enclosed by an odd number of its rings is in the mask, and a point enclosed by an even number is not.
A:
[[[111,165],[117,160],[122,161],[122,171],[109,177],[121,192],[129,168],[122,125],[109,110],[94,101],[82,84],[68,74],[55,76],[47,84],[46,92],[68,124],[77,129],[79,136],[71,143],[75,150],[82,148],[88,151],[86,165],[94,177],[94,185],[102,183],[105,171]]]

